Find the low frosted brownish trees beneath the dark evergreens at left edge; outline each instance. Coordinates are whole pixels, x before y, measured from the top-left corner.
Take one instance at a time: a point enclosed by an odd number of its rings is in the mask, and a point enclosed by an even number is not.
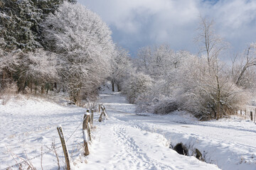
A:
[[[38,49],[35,52],[16,50],[6,52],[0,48],[1,89],[16,81],[17,91],[26,92],[26,87],[43,87],[58,79],[57,58],[51,52]]]

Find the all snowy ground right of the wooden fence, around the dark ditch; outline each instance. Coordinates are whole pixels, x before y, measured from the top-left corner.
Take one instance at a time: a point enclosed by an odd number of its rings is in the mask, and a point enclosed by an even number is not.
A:
[[[100,130],[101,139],[106,137],[108,147],[115,150],[115,157],[106,157],[106,166],[102,169],[215,169],[202,167],[193,157],[176,154],[168,148],[170,142],[172,145],[183,142],[199,149],[207,162],[217,164],[220,169],[256,169],[253,123],[243,120],[199,122],[186,114],[185,119],[182,118],[183,113],[142,116],[135,114],[135,106],[117,93],[102,94],[101,98],[110,115],[110,120],[99,125],[110,130]],[[179,159],[190,164],[189,168]],[[89,160],[97,162],[91,157]],[[90,167],[90,163],[87,166]]]

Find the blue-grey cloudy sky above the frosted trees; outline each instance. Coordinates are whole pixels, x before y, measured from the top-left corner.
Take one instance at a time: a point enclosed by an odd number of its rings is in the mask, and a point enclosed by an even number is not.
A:
[[[255,0],[78,0],[99,14],[114,42],[135,56],[139,47],[166,43],[196,54],[199,16],[213,18],[216,32],[242,52],[256,41]]]

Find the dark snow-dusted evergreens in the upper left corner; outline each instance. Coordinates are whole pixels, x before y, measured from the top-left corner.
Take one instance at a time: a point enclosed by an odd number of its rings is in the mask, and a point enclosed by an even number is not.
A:
[[[68,0],[75,4],[74,0]],[[63,0],[3,0],[0,3],[0,33],[4,50],[36,50],[41,45],[41,23]]]

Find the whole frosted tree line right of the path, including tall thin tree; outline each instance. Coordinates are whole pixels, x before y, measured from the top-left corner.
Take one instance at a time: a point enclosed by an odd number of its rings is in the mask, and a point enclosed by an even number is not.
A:
[[[201,18],[195,43],[198,56],[174,52],[168,45],[142,47],[121,89],[138,111],[166,114],[189,111],[201,120],[235,114],[250,104],[256,91],[256,43],[230,63],[227,42],[215,33],[213,21]]]

